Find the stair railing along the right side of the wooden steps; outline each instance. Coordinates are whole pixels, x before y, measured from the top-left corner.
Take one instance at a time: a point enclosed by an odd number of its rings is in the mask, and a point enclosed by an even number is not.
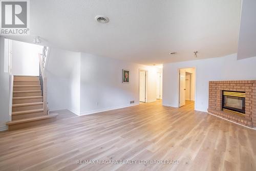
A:
[[[40,65],[40,73],[42,77],[42,100],[43,100],[43,108],[44,108],[44,115],[47,115],[47,77],[45,76],[45,70],[42,65],[42,58],[41,54],[38,54],[39,58],[39,65]]]

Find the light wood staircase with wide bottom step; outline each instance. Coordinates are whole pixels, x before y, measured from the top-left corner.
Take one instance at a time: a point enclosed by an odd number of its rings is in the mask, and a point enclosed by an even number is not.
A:
[[[12,116],[8,130],[17,130],[54,121],[58,114],[48,114],[38,76],[14,76]]]

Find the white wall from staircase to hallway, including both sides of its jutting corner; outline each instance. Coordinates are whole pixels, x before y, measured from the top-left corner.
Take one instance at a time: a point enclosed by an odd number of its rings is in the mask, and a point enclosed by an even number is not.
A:
[[[122,83],[122,69],[130,70],[130,83]],[[156,101],[156,67],[51,49],[46,66],[49,109],[85,115],[139,104],[139,69],[148,72],[147,102]]]

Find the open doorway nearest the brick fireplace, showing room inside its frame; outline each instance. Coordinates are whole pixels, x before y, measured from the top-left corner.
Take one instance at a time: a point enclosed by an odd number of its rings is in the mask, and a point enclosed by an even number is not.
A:
[[[195,68],[179,69],[179,107],[195,101]]]

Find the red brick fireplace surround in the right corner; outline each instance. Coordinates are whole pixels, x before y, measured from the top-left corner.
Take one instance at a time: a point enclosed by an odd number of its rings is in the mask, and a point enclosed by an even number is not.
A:
[[[245,92],[245,117],[221,110],[222,90]],[[208,112],[248,127],[256,127],[256,80],[209,81]]]

